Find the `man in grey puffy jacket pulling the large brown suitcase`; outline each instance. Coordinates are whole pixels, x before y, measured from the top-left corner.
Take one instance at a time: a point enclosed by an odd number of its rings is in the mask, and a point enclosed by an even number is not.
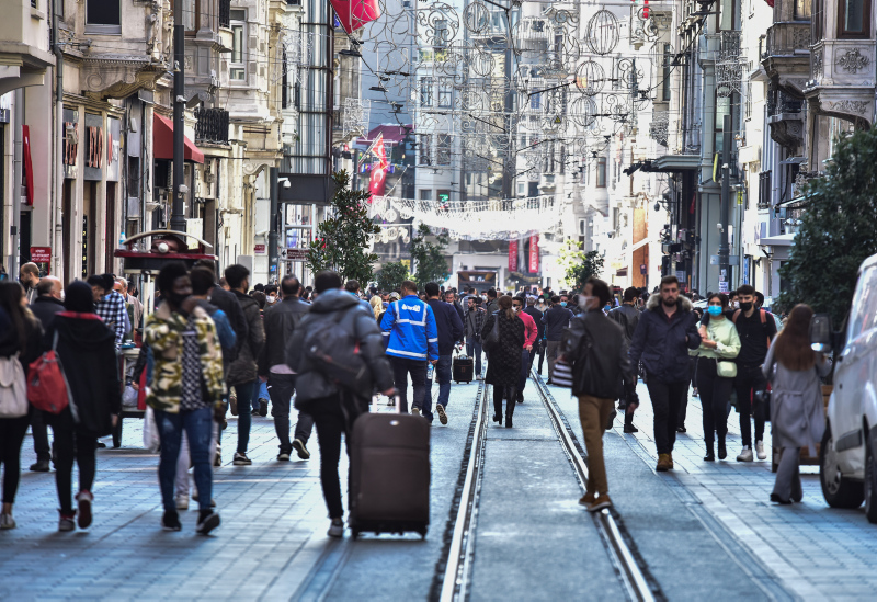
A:
[[[341,537],[344,534],[344,508],[338,476],[341,435],[344,434],[350,454],[353,423],[358,416],[368,411],[372,390],[379,390],[387,396],[394,395],[392,373],[384,353],[381,340],[384,337],[375,323],[374,316],[352,295],[341,289],[341,276],[331,271],[320,272],[315,279],[315,286],[319,297],[288,340],[286,361],[288,367],[298,375],[295,407],[299,412],[311,416],[317,425],[320,484],[331,520],[328,534],[330,537]],[[332,328],[332,325],[338,325],[349,334],[348,344],[358,343],[360,356],[371,377],[367,389],[355,390],[343,386],[334,378],[327,377],[320,372],[321,365],[306,352],[305,341],[308,337],[314,337],[315,333],[319,336]],[[351,353],[352,349],[337,350],[337,356]]]

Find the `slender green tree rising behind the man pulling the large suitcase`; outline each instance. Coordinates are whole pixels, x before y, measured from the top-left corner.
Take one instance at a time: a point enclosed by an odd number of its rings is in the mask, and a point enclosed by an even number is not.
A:
[[[380,228],[368,217],[368,191],[350,189],[350,177],[344,170],[332,174],[335,193],[329,202],[331,217],[317,227],[310,241],[306,263],[315,274],[321,270],[335,270],[343,280],[357,280],[363,287],[372,280],[372,264],[377,254],[366,251],[368,238]]]

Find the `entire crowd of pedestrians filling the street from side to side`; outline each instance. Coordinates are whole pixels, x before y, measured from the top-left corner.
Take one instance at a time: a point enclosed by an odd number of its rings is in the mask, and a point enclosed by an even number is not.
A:
[[[759,294],[749,285],[734,292],[733,302],[726,294],[708,294],[701,314],[674,276],[662,279],[651,295],[638,288],[614,293],[597,279],[576,294],[549,288],[538,296],[493,288],[457,292],[412,281],[398,292],[364,294],[358,282],[343,282],[331,271],[316,274],[312,286],[287,275],[276,285],[251,287],[243,265],[229,265],[217,277],[214,262],[191,269],[169,262],[156,280],[155,311],[147,315],[125,279],[95,274],[65,287],[33,270],[32,264],[22,268],[21,285],[0,283],[0,371],[4,378],[23,374],[54,353],[66,375],[69,404],[50,411],[25,401],[23,413],[12,416],[3,413],[7,398],[0,398],[2,529],[15,526],[12,508],[29,425],[36,453],[31,469],[48,472],[50,463],[56,468],[59,531],[90,525],[96,450],[119,420],[126,384],[134,390],[146,384],[143,393],[156,423],[161,527],[182,529],[180,511],[189,508],[190,497],[198,506],[198,533],[220,524],[213,472],[223,465],[227,414],[237,416],[231,463],[249,466],[253,417],[265,417],[270,409],[280,462],[293,453],[307,461],[316,427],[329,534],[341,536],[342,435],[351,435],[354,421],[378,394],[394,405],[398,399],[403,413],[430,423],[437,416],[448,424],[457,359],[471,360],[472,378],[492,386],[493,422],[509,429],[531,372],[542,374],[547,357],[547,382],[560,385],[560,368],[568,370],[563,384],[578,398],[590,467],[580,502],[592,511],[612,506],[602,438],[616,402],[625,414],[624,432],[637,432],[639,378],[651,400],[657,469],[663,472],[674,467],[674,442],[685,432],[692,385],[703,406],[704,459],[728,455],[728,405],[736,394],[743,439],[737,459],[751,462],[766,457],[767,417],[755,394],[770,379],[775,399],[797,395],[828,370],[824,359],[802,343],[812,311],[796,307],[777,336],[773,316],[759,307]],[[135,344],[138,361],[133,371],[121,373],[119,350]],[[434,413],[433,380],[438,385]],[[295,425],[293,407],[298,410]],[[782,412],[774,406],[772,418],[791,420]],[[779,503],[800,499],[797,453],[821,434],[816,417],[808,423],[813,428],[807,436],[779,438],[783,459],[772,495]],[[73,463],[79,467],[75,496]]]

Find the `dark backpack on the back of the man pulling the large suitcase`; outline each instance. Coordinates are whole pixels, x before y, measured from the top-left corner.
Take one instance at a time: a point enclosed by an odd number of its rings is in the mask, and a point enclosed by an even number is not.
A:
[[[372,373],[360,353],[360,341],[341,326],[348,314],[338,311],[331,320],[309,325],[305,356],[335,385],[367,397],[372,395]]]

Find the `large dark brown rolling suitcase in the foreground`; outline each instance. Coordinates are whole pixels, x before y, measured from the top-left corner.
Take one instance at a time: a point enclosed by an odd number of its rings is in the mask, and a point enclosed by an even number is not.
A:
[[[350,527],[362,532],[413,531],[430,526],[430,423],[396,412],[365,413],[353,423],[350,459]]]

